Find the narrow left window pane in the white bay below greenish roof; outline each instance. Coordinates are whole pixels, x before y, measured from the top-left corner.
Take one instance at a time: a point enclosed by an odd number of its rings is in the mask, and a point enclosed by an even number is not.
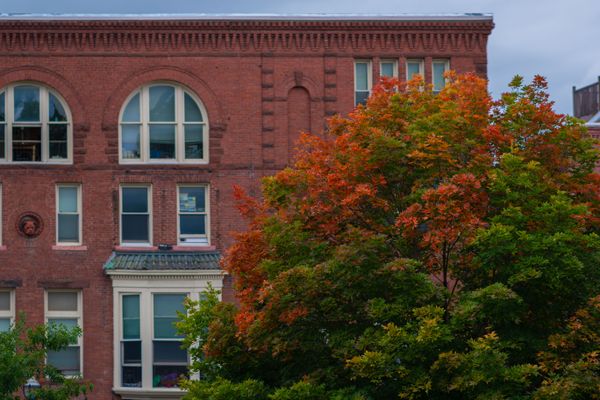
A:
[[[121,296],[121,380],[123,387],[142,387],[140,295]]]

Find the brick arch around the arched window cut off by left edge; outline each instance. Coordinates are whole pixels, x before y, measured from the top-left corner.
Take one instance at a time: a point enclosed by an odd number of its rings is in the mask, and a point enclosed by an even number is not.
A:
[[[88,113],[79,93],[61,74],[48,68],[24,65],[0,71],[0,88],[15,82],[33,82],[56,91],[66,101],[73,118],[73,164],[84,161],[85,139],[90,131]]]

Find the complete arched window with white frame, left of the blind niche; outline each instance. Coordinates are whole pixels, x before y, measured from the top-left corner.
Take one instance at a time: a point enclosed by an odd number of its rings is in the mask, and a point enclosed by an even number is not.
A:
[[[121,163],[208,162],[204,107],[179,85],[141,87],[129,96],[119,120]]]

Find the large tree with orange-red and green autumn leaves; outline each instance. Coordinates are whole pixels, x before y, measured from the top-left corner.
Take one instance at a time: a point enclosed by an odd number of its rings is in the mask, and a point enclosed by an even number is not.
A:
[[[384,81],[237,191],[239,307],[191,305],[188,397],[598,398],[597,160],[541,77]]]

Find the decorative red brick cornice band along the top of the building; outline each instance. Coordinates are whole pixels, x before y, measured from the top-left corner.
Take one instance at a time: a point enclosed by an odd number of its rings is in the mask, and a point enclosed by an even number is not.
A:
[[[491,20],[0,21],[0,51],[485,51]]]

